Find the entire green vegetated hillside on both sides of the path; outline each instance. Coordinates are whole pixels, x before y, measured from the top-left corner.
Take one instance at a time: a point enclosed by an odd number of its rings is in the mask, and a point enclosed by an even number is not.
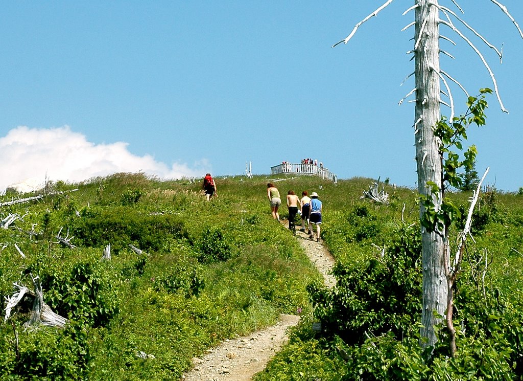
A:
[[[276,183],[282,195],[306,189],[323,201],[322,237],[338,261],[340,285],[329,293],[292,234],[272,220],[268,180],[276,179],[218,178],[219,196],[207,202],[200,184],[116,174],[54,184],[47,192],[62,193],[0,207],[0,219],[20,217],[0,229],[0,294],[12,295],[14,282],[32,289],[38,276],[46,303],[70,319],[64,330],[25,330],[31,306],[17,309],[0,324],[0,379],[179,379],[191,357],[298,308],[299,329],[258,379],[521,374],[523,196],[482,196],[455,314],[463,327],[458,345],[470,351],[450,361],[440,349],[433,365],[421,363],[417,350],[413,190],[387,185],[390,203],[378,205],[360,198],[372,183],[366,178]],[[451,195],[463,210],[469,196]],[[287,217],[285,207],[280,215]],[[60,243],[59,232],[76,247]],[[111,260],[100,261],[107,244]],[[314,321],[323,332],[312,331]]]

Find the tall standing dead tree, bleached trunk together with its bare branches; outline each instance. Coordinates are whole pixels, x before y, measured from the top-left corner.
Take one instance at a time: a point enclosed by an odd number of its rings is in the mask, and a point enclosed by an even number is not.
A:
[[[463,9],[459,6],[456,0],[450,0],[459,10],[463,13]],[[492,3],[497,5],[502,11],[510,18],[510,20],[516,26],[521,38],[523,38],[523,32],[519,28],[515,19],[508,13],[507,8],[496,0],[491,0]],[[345,44],[355,35],[358,28],[368,21],[372,16],[376,16],[381,10],[392,3],[392,0],[385,2],[381,7],[376,9],[373,13],[368,15],[366,18],[361,20],[350,34],[342,41],[337,42],[333,47],[344,42]],[[448,81],[452,81],[458,85],[461,90],[469,97],[467,90],[452,76],[445,71],[442,71],[439,66],[439,55],[447,54],[450,58],[452,55],[444,50],[439,49],[439,40],[447,40],[454,46],[456,42],[448,37],[442,36],[439,33],[439,26],[446,25],[453,32],[455,32],[463,41],[465,41],[478,55],[483,65],[487,69],[491,76],[492,83],[494,85],[494,91],[497,96],[498,103],[503,112],[507,112],[501,96],[499,95],[497,81],[492,72],[490,66],[486,62],[482,53],[477,49],[474,44],[453,24],[452,19],[449,15],[457,19],[462,25],[467,28],[468,31],[472,32],[476,37],[480,38],[489,48],[493,49],[498,57],[501,59],[503,50],[499,50],[488,42],[483,36],[480,35],[474,28],[469,24],[465,23],[456,13],[452,12],[447,7],[440,6],[439,0],[415,0],[415,4],[408,8],[403,15],[407,14],[411,10],[414,10],[414,23],[408,24],[402,30],[406,30],[412,26],[414,30],[414,49],[409,51],[408,54],[414,53],[411,61],[414,60],[415,71],[415,86],[414,90],[407,94],[403,99],[400,100],[400,104],[414,92],[416,93],[415,100],[408,100],[408,103],[415,103],[415,115],[414,115],[414,136],[415,136],[415,147],[416,147],[416,165],[417,165],[417,177],[418,177],[418,192],[419,194],[427,195],[426,185],[430,182],[440,189],[439,193],[433,196],[433,202],[436,211],[441,208],[441,160],[439,155],[439,139],[434,135],[434,127],[441,119],[440,105],[447,105],[451,108],[450,122],[454,117],[454,100],[452,91]],[[442,20],[439,17],[439,13],[443,13],[447,20]],[[408,75],[402,84],[410,77]],[[441,83],[446,87],[446,94],[449,97],[450,103],[446,103],[441,100]],[[420,205],[420,219],[423,217],[425,210],[423,205]],[[470,235],[470,232],[469,232]],[[446,270],[448,266],[445,266],[446,251],[445,251],[445,234],[442,231],[427,232],[422,229],[422,245],[423,245],[423,311],[422,311],[422,338],[423,346],[433,346],[436,341],[436,333],[434,327],[441,323],[441,319],[438,316],[444,316],[447,310],[447,301],[449,297],[448,280],[446,276]],[[466,238],[466,236],[465,236]],[[461,257],[461,256],[460,256]],[[486,257],[486,254],[485,254]],[[452,295],[450,295],[452,298]]]

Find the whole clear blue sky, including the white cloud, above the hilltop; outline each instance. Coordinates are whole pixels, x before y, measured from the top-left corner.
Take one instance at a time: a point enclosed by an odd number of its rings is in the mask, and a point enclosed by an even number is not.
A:
[[[162,177],[235,175],[251,161],[317,159],[340,178],[415,186],[412,0],[18,1],[0,13],[0,192],[26,178],[81,181],[118,171]],[[471,127],[488,184],[523,186],[523,39],[490,0],[461,15],[496,75],[504,114],[487,98],[487,126]],[[523,2],[504,0],[523,25]],[[450,0],[440,0],[458,13]],[[461,28],[465,31],[465,28]],[[441,67],[471,94],[493,87],[477,55],[457,42]],[[453,89],[457,112],[464,95]],[[442,113],[449,115],[448,109]]]

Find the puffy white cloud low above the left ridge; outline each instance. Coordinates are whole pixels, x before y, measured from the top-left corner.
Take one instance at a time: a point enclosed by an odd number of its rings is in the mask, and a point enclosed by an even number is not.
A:
[[[24,126],[10,130],[0,138],[0,193],[12,184],[46,180],[80,182],[95,176],[117,172],[144,172],[161,178],[201,176],[208,163],[185,163],[171,167],[155,161],[151,155],[137,156],[128,143],[94,144],[68,126],[49,129]]]

